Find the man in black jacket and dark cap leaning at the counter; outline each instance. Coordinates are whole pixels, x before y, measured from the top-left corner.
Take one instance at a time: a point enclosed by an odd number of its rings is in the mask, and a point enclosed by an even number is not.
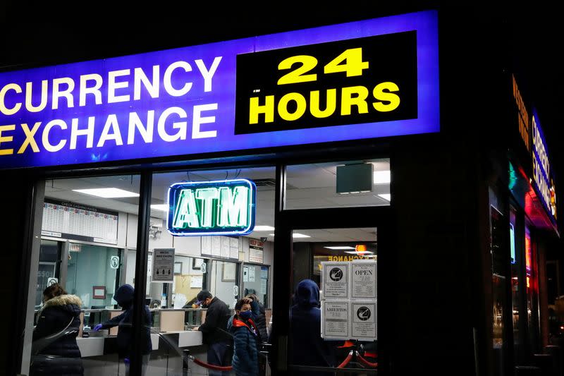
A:
[[[231,365],[229,356],[226,356],[233,342],[227,332],[227,320],[231,315],[229,308],[226,303],[223,303],[217,296],[212,296],[212,293],[207,290],[202,290],[197,294],[195,305],[207,308],[204,323],[193,329],[202,332],[204,344],[207,344],[207,363],[221,367]],[[229,372],[209,370],[208,375],[228,374]]]

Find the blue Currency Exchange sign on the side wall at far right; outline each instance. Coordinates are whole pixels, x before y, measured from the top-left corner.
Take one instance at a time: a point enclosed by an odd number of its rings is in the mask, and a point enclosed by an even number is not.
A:
[[[532,116],[532,159],[533,159],[533,182],[539,191],[541,202],[553,222],[556,222],[556,187],[551,176],[551,164],[548,160],[546,140],[542,132],[541,123],[537,111],[533,109]]]

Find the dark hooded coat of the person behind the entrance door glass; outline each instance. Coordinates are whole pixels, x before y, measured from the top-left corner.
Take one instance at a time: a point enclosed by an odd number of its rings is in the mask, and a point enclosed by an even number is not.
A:
[[[321,338],[319,287],[311,279],[304,279],[296,287],[294,298],[295,305],[290,308],[290,364],[334,367],[335,342]]]

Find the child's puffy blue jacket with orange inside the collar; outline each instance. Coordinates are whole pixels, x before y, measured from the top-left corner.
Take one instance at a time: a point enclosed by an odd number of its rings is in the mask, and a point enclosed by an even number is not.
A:
[[[237,376],[259,375],[258,329],[252,319],[239,320],[233,315],[227,328],[233,334],[233,371]]]

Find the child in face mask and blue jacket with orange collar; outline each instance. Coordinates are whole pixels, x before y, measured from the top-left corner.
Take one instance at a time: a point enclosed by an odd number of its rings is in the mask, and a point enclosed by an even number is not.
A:
[[[252,320],[251,299],[239,299],[227,327],[233,334],[233,371],[237,376],[259,375],[259,329]]]

